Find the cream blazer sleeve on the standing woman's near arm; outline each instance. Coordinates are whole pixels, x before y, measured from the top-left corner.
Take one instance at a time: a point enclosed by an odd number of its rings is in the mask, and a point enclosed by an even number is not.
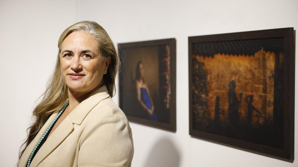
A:
[[[111,113],[91,119],[86,126],[80,141],[78,166],[131,166],[131,129]]]

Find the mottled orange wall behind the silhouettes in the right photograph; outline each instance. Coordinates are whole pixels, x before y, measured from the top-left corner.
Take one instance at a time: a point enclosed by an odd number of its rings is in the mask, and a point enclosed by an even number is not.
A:
[[[195,56],[195,55],[193,55]],[[283,54],[280,53],[280,58]],[[264,119],[273,115],[274,98],[274,63],[275,53],[262,49],[253,56],[215,54],[214,57],[196,55],[199,62],[204,62],[202,67],[207,71],[208,109],[210,119],[214,119],[216,97],[220,97],[220,108],[224,110],[221,121],[228,120],[229,109],[229,83],[236,83],[235,92],[239,105],[240,121],[245,122],[249,96],[253,96],[252,105],[262,113],[260,124]],[[240,93],[243,93],[240,99]],[[247,97],[247,98],[246,98]],[[246,101],[247,100],[247,101]],[[253,111],[252,123],[257,121],[258,114]]]

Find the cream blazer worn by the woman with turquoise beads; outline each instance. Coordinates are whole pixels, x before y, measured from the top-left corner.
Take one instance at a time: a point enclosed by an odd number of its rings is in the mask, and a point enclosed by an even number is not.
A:
[[[19,167],[59,111],[55,111],[24,150]],[[30,167],[131,166],[134,144],[125,114],[113,102],[105,85],[82,101],[53,131],[36,153]]]

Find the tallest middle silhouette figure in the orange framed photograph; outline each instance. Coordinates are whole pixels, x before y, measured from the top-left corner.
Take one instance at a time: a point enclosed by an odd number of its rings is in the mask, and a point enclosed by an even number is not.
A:
[[[239,105],[243,97],[243,93],[241,92],[239,94],[240,99],[238,100],[235,92],[235,87],[236,87],[236,82],[234,80],[230,81],[228,98],[229,98],[229,121],[231,122],[231,125],[236,125],[238,123]]]

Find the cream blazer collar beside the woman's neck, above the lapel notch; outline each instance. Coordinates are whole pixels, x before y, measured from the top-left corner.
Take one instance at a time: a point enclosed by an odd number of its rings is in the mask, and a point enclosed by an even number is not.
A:
[[[83,100],[70,114],[69,118],[72,123],[81,125],[89,112],[103,99],[109,97],[108,89],[105,85],[92,92]]]

